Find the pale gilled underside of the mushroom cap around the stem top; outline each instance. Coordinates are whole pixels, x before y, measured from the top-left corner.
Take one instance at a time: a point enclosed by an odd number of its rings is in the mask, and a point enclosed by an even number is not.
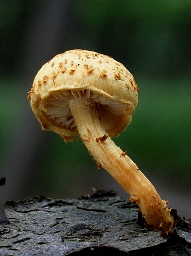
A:
[[[46,98],[46,118],[59,128],[77,130],[75,120],[70,110],[69,102],[75,98],[92,100],[98,107],[102,124],[106,131],[110,131],[122,116],[126,116],[127,124],[131,121],[132,105],[106,99],[102,95],[96,95],[92,91],[85,90],[63,90],[62,92],[51,92]],[[128,114],[129,113],[129,114]]]

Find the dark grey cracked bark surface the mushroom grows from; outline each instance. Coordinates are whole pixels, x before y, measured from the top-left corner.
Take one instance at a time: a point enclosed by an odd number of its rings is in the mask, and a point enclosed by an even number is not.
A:
[[[191,231],[185,221],[177,235],[164,239],[146,230],[138,208],[98,191],[80,199],[38,196],[5,203],[7,219],[0,219],[0,255],[191,255]]]

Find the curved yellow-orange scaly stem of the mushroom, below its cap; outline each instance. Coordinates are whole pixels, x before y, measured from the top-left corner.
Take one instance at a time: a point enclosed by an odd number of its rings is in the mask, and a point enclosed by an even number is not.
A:
[[[152,183],[139,170],[136,163],[106,134],[99,117],[98,103],[76,98],[70,108],[77,130],[89,153],[131,195],[146,221],[146,225],[161,230],[162,236],[173,234],[174,220],[166,201],[161,200]]]

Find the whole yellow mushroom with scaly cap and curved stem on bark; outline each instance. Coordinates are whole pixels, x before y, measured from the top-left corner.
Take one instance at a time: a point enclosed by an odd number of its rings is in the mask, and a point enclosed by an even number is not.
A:
[[[138,102],[138,87],[123,64],[88,50],[66,51],[42,66],[28,98],[43,130],[65,142],[80,135],[98,168],[109,172],[140,207],[145,225],[164,237],[173,234],[167,202],[127,151],[111,140],[131,122]]]

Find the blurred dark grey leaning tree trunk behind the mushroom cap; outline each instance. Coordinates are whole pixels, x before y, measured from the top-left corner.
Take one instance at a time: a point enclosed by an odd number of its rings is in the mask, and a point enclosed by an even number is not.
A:
[[[6,185],[1,189],[1,215],[5,200],[18,200],[32,194],[30,190],[33,184],[30,181],[34,180],[35,170],[39,169],[46,141],[30,110],[26,93],[42,64],[57,54],[58,49],[65,51],[68,48],[67,39],[72,33],[71,4],[71,1],[63,0],[38,1],[35,3],[36,13],[33,13],[32,24],[25,33],[21,49],[23,56],[18,60],[18,72],[24,85],[18,88],[17,95],[21,112],[17,113],[13,134],[2,154],[1,176],[6,177]],[[63,36],[66,39],[64,42],[61,40]]]

